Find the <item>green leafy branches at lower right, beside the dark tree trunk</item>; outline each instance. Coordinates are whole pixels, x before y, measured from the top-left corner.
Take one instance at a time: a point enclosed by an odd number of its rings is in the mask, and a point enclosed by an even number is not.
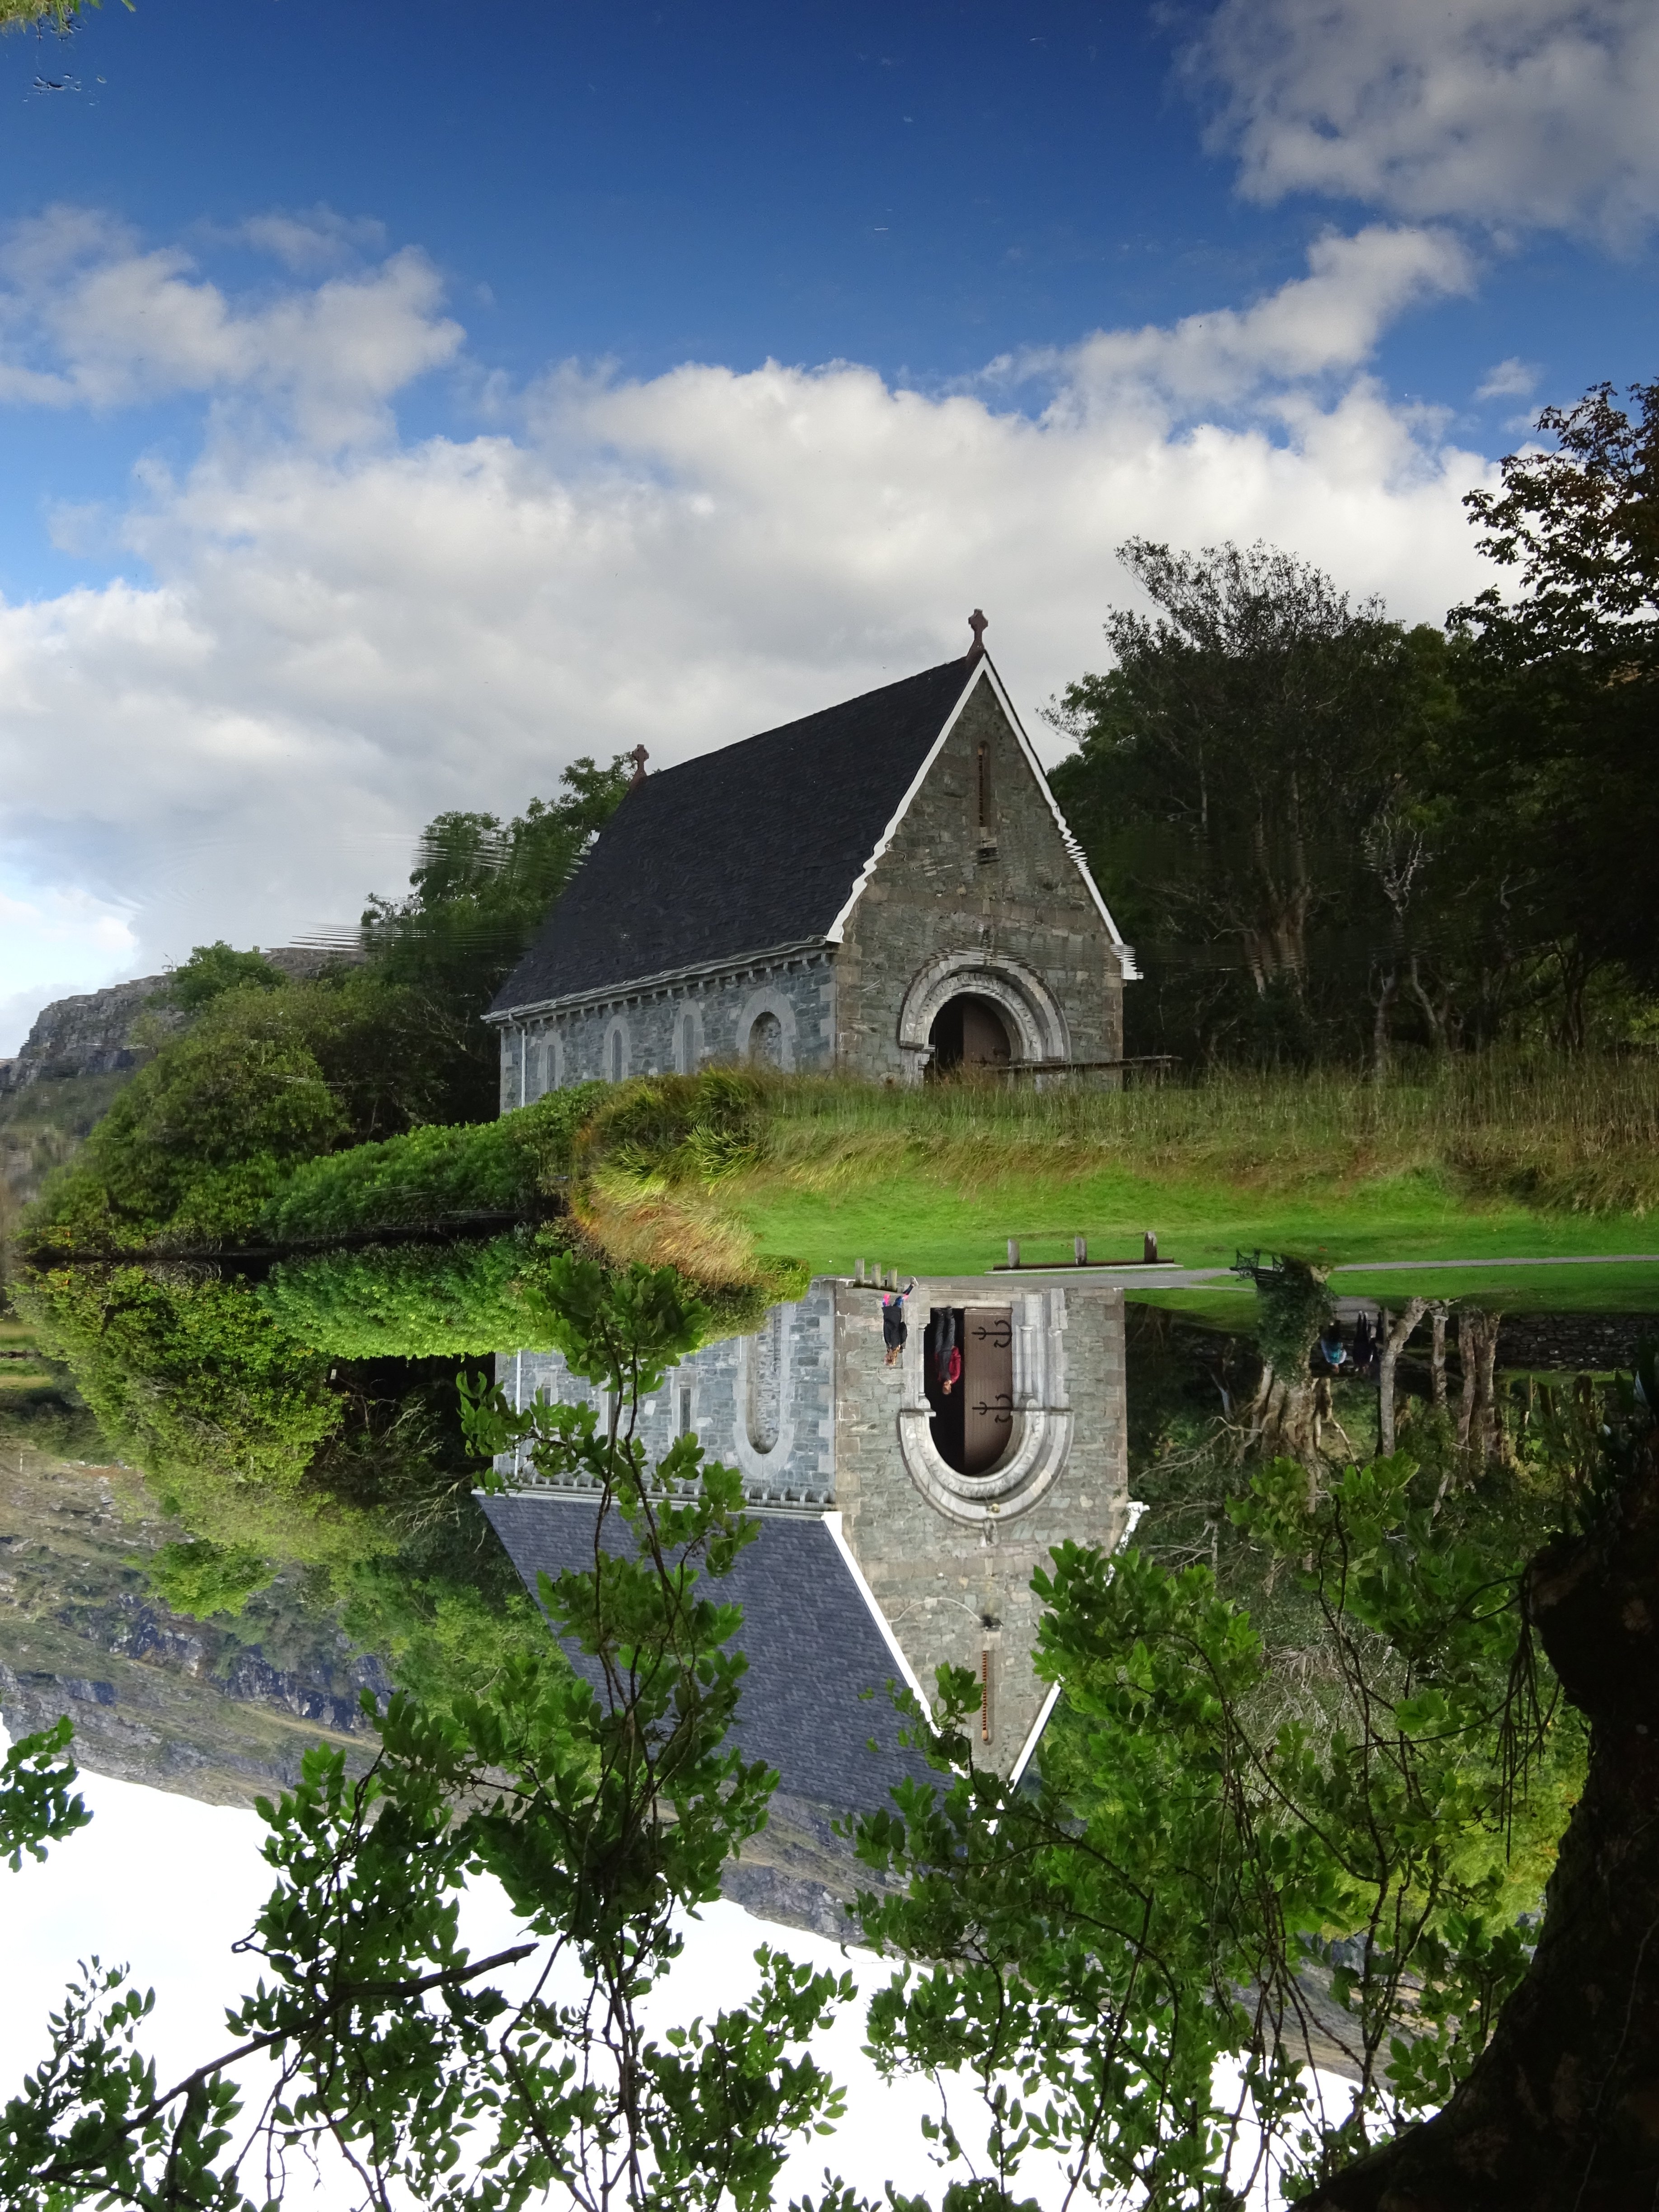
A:
[[[1031,2152],[1084,2194],[1194,2212],[1243,2201],[1259,2146],[1312,2185],[1367,2126],[1444,2101],[1524,1973],[1515,1922],[1584,1745],[1517,1672],[1513,1555],[1438,1522],[1402,1455],[1325,1491],[1279,1460],[1230,1511],[1318,1608],[1327,1677],[1287,1694],[1208,1568],[1062,1544],[1033,1579],[1037,1666],[1064,1683],[1040,1787],[973,1772],[975,1686],[942,1674],[933,1725],[911,1717],[940,1781],[858,1825],[872,1871],[909,1882],[858,1898],[909,1962],[872,2048],[978,2079],[987,2203]],[[1301,2075],[1329,2033],[1358,2077],[1347,2117]]]

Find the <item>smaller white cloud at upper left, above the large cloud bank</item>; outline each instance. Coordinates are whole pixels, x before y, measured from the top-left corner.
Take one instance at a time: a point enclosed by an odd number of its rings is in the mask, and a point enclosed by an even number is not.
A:
[[[292,259],[303,226],[270,219]],[[312,223],[310,234],[327,234]],[[274,237],[265,239],[276,243]],[[378,268],[228,299],[179,248],[146,250],[86,208],[51,208],[0,243],[0,400],[111,411],[179,392],[274,403],[319,445],[378,436],[387,400],[462,343],[414,248]]]

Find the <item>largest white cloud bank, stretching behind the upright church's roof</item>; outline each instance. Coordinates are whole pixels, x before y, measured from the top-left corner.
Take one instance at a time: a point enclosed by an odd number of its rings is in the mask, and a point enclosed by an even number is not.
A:
[[[471,438],[217,434],[142,473],[142,582],[0,604],[4,836],[131,909],[142,971],[352,920],[440,807],[518,810],[580,752],[661,768],[958,655],[975,604],[1033,714],[1099,664],[1130,533],[1267,538],[1440,619],[1489,465],[1365,356],[1464,281],[1433,232],[1325,239],[1254,307],[1044,356],[1026,407],[847,363],[564,367]]]

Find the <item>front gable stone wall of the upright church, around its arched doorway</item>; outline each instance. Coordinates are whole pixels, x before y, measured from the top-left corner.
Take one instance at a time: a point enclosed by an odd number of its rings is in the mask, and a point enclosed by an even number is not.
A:
[[[978,748],[989,745],[995,858],[980,858]],[[1073,1060],[1124,1051],[1124,984],[1060,827],[989,684],[980,684],[847,922],[836,962],[836,1060],[914,1079],[898,1013],[936,956],[1013,956],[1060,1000]]]

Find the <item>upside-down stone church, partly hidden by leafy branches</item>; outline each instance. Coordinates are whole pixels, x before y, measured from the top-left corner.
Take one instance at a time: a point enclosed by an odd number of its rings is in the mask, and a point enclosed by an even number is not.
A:
[[[878,1292],[818,1276],[759,1334],[695,1352],[644,1407],[653,1462],[695,1431],[743,1473],[761,1522],[730,1595],[750,1661],[741,1734],[781,1774],[783,1834],[885,1803],[907,1761],[887,1701],[865,1692],[889,1679],[931,1692],[947,1661],[982,1686],[975,1756],[1018,1767],[1044,1719],[1031,1575],[1066,1537],[1110,1548],[1124,1533],[1124,1294],[922,1281],[907,1314],[887,1367]],[[947,1314],[964,1354],[949,1398],[929,1376]],[[553,1352],[500,1374],[515,1402],[597,1405]],[[482,1504],[524,1582],[591,1562],[591,1493],[522,1464],[502,1473],[509,1495]]]

